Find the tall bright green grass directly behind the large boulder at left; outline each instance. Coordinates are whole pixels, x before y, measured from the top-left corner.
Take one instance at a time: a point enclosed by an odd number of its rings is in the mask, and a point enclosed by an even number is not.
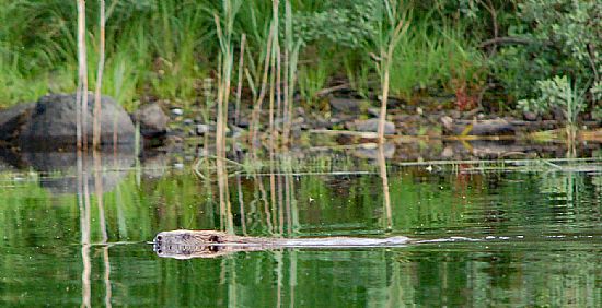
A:
[[[205,44],[215,31],[207,12],[209,1],[200,5],[174,0],[115,3],[119,2],[111,2],[107,12],[105,93],[128,107],[141,94],[192,100],[210,69],[199,66],[202,60],[209,62],[201,55],[211,55],[215,48]],[[95,21],[97,5],[88,7],[89,20]],[[0,1],[0,81],[7,88],[0,91],[0,105],[74,91],[76,13],[71,1]],[[97,25],[89,23],[92,67],[99,58],[97,35]]]

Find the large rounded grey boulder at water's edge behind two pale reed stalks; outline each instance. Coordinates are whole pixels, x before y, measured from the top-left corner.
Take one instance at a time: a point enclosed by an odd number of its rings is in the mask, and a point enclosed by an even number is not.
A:
[[[128,114],[107,96],[101,99],[101,143],[113,144],[114,135],[118,144],[130,144],[135,141],[135,128]],[[86,130],[82,133],[92,143],[92,115],[94,97],[88,95],[88,114],[84,115]],[[14,116],[0,130],[0,137],[9,133],[19,135],[22,149],[60,149],[76,145],[76,95],[51,94],[42,97],[33,108]],[[8,110],[9,112],[11,110]],[[13,110],[16,112],[16,110]],[[18,119],[19,125],[12,125]]]

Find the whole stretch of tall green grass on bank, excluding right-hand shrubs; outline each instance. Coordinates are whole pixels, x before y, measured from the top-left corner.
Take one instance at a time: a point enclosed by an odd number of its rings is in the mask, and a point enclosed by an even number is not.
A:
[[[220,11],[221,5],[222,2],[208,0],[108,1],[103,94],[114,96],[129,110],[148,97],[178,100],[183,107],[202,106],[199,104],[205,100],[202,82],[217,73],[220,46],[212,14]],[[287,84],[287,88],[280,88],[281,94],[287,100],[300,94],[309,107],[314,107],[320,91],[334,82],[348,82],[349,87],[363,96],[378,84],[369,57],[371,48],[350,49],[329,40],[309,44],[297,40],[296,12],[315,12],[324,5],[320,1],[299,0],[291,1],[288,13],[286,1],[280,1],[279,8],[280,51],[282,60],[286,52],[289,57],[281,63],[281,83]],[[92,21],[86,33],[89,67],[96,67],[99,61],[97,13],[95,3],[88,5],[88,20]],[[74,92],[76,14],[71,1],[0,0],[3,25],[0,28],[0,82],[7,85],[0,91],[0,106],[35,100],[48,92]],[[254,91],[255,103],[262,93],[266,59],[273,54],[266,50],[273,19],[271,1],[243,1],[232,24],[234,46],[240,46],[242,34],[246,34],[243,93]],[[477,70],[478,66],[473,63],[481,63],[479,54],[471,49],[461,25],[450,29],[438,24],[429,15],[413,21],[395,49],[392,95],[408,97],[416,87],[425,86],[453,92],[452,80],[470,79]],[[456,68],[463,64],[467,68],[459,72]],[[233,69],[238,71],[238,66]],[[89,73],[91,88],[95,86],[94,75],[93,71]],[[292,92],[285,93],[289,90]],[[269,88],[264,93],[267,96]],[[283,109],[292,106],[283,103]]]

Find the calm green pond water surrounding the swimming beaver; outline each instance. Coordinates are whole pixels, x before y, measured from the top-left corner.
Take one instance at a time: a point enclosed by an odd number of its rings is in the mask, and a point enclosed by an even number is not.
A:
[[[389,162],[390,215],[374,161],[232,164],[227,215],[215,170],[170,159],[79,177],[4,168],[0,306],[602,306],[600,159]],[[176,228],[443,241],[159,258],[147,241]]]

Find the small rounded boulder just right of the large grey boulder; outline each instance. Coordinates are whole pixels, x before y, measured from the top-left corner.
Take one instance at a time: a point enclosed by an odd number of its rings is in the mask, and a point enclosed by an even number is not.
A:
[[[132,115],[134,121],[140,123],[140,134],[144,138],[163,139],[167,134],[170,118],[159,103],[147,104]]]

